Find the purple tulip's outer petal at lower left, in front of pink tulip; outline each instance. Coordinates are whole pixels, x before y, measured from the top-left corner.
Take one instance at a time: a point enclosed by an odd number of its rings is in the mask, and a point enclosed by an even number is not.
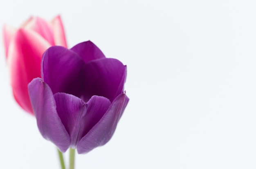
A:
[[[65,152],[70,146],[70,136],[58,116],[50,87],[41,78],[35,78],[28,89],[40,133]]]

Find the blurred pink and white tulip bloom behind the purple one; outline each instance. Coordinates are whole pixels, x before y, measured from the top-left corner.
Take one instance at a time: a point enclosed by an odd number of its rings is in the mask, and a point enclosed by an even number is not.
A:
[[[25,111],[33,114],[27,85],[40,76],[41,58],[54,45],[67,47],[60,16],[52,22],[29,18],[19,29],[4,26],[5,54],[10,69],[13,96]]]

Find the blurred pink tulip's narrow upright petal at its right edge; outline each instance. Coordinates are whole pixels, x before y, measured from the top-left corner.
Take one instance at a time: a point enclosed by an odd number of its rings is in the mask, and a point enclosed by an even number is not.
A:
[[[56,16],[52,20],[52,27],[53,27],[55,45],[63,46],[65,48],[67,48],[65,31],[64,31],[64,27],[63,27],[60,16]]]

